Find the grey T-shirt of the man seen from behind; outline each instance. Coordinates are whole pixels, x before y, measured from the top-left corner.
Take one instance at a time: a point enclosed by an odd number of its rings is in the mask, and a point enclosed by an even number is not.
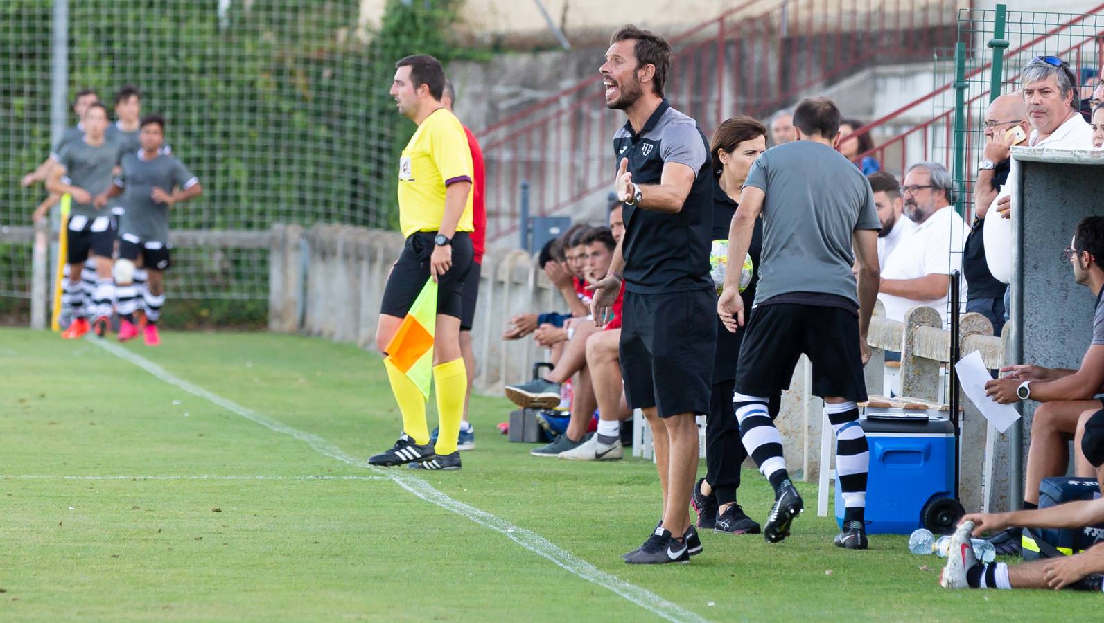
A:
[[[745,186],[766,193],[755,304],[789,292],[843,297],[856,309],[856,229],[881,229],[870,182],[835,149],[794,141],[766,150]]]

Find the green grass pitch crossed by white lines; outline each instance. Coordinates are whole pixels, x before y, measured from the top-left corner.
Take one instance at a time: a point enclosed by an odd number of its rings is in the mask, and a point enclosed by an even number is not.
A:
[[[389,447],[399,430],[379,357],[352,346],[167,332],[160,348],[125,348],[349,456]],[[0,330],[0,619],[659,619],[379,471],[88,341]],[[428,484],[667,600],[676,620],[1093,620],[1104,603],[945,591],[942,560],[909,554],[902,536],[839,550],[835,522],[815,517],[805,483],[809,512],[783,544],[710,531],[690,565],[629,567],[619,555],[658,516],[650,462],[532,458],[495,429],[508,411],[505,399],[474,398],[476,450],[463,471],[429,474]],[[769,487],[744,476],[741,503],[763,520]]]

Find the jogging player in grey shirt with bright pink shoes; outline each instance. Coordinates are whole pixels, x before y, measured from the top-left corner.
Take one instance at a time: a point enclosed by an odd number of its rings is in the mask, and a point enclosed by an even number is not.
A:
[[[147,289],[142,292],[146,310],[146,345],[157,346],[161,339],[157,321],[164,305],[164,271],[169,258],[169,210],[193,200],[203,193],[203,186],[192,172],[174,155],[161,151],[164,144],[164,119],[149,115],[141,120],[139,131],[141,149],[123,155],[123,173],[112,185],[108,198],[123,195],[123,219],[119,223],[119,259],[115,262],[119,342],[138,335],[135,312],[138,310],[138,290],[135,287],[135,262],[140,257],[147,272]],[[97,206],[103,206],[96,200]]]

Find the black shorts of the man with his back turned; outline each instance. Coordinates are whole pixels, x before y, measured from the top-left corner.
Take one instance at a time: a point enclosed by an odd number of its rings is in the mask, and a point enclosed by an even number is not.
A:
[[[789,388],[797,359],[813,362],[813,395],[867,399],[859,319],[848,310],[797,303],[752,310],[740,348],[736,393],[774,396]]]

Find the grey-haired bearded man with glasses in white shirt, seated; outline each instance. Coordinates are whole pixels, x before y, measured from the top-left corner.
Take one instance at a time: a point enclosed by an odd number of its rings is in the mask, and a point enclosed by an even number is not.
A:
[[[966,222],[951,206],[954,181],[938,162],[909,168],[901,186],[904,215],[915,224],[882,267],[878,298],[885,318],[904,321],[913,305],[935,308],[947,322],[951,273],[962,269]]]

